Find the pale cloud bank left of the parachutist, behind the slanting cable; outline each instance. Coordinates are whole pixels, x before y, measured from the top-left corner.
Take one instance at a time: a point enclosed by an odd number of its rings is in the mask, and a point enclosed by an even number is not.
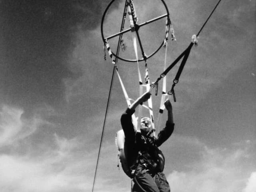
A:
[[[46,111],[56,115],[49,108],[38,109],[38,114],[45,115]],[[94,142],[89,144],[92,140],[82,136],[66,138],[52,132],[43,134],[45,124],[49,129],[56,125],[39,115],[25,119],[23,113],[23,110],[10,106],[3,106],[0,111],[1,192],[90,191],[98,154],[98,148],[90,147]],[[113,185],[105,175],[114,177],[109,164],[116,167],[116,152],[113,135],[113,142],[104,142],[102,146],[96,180],[96,188],[101,192],[113,191]]]

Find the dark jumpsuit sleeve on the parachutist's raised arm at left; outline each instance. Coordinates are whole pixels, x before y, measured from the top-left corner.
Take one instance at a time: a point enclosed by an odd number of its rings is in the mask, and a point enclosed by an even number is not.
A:
[[[121,125],[122,125],[122,129],[124,130],[124,136],[126,140],[133,143],[135,141],[135,130],[132,124],[132,114],[134,112],[135,110],[131,110],[127,108],[126,111],[121,116]]]

